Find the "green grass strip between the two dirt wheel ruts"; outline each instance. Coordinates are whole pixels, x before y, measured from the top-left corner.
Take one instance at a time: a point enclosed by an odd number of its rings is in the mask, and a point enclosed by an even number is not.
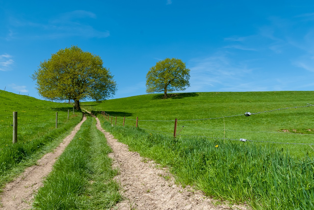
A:
[[[111,148],[88,116],[34,197],[34,209],[110,209],[122,200]]]

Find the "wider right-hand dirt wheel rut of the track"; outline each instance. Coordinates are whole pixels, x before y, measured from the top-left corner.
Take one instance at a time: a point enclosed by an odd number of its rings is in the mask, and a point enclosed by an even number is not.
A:
[[[137,152],[130,152],[125,144],[116,139],[100,126],[113,153],[113,167],[120,168],[116,180],[123,187],[123,194],[127,199],[114,209],[143,210],[143,209],[246,209],[242,206],[213,205],[213,200],[206,198],[201,191],[196,191],[187,186],[183,189],[173,183],[171,174],[167,169],[160,169],[153,161],[143,159]]]

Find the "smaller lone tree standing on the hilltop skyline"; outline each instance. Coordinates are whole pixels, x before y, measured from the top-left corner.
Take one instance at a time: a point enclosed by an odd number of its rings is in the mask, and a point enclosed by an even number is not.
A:
[[[190,69],[185,67],[181,59],[166,58],[151,67],[146,75],[146,92],[164,92],[185,90],[190,87]]]

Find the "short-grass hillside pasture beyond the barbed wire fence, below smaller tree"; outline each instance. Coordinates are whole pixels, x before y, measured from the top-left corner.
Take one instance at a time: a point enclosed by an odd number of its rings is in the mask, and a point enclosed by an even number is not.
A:
[[[265,112],[249,117],[243,115],[245,112],[257,113],[314,104],[313,94],[313,91],[205,92],[172,94],[168,99],[162,99],[162,94],[146,94],[106,100],[103,103],[84,102],[82,106],[89,111],[106,111],[113,116],[113,124],[117,116],[117,125],[122,125],[123,117],[126,116],[126,127],[135,127],[138,116],[138,127],[152,130],[148,132],[166,132],[169,137],[173,136],[174,119],[177,118],[177,133],[182,128],[179,134],[181,136],[314,143],[314,106]],[[217,117],[220,118],[180,121]],[[288,149],[294,157],[314,155],[314,150],[309,145],[274,146]]]

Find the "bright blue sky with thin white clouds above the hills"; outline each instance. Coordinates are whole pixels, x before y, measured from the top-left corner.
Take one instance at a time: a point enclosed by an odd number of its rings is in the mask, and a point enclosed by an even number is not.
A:
[[[185,92],[314,90],[313,1],[3,1],[0,89],[40,98],[30,75],[77,45],[99,55],[115,98],[145,93],[166,57],[191,70]]]

